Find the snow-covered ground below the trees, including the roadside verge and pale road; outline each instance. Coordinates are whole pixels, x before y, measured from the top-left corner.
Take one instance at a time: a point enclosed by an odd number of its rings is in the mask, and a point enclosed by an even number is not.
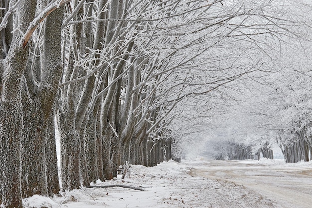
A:
[[[83,188],[53,199],[25,199],[31,208],[308,208],[312,204],[312,164],[283,161],[197,159],[132,166],[122,180],[96,185],[126,185],[145,191]]]

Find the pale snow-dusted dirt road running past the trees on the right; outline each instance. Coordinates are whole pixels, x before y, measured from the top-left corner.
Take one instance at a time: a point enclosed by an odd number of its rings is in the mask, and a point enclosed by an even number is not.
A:
[[[312,167],[260,165],[252,161],[203,161],[191,166],[197,176],[244,186],[277,207],[312,207]]]

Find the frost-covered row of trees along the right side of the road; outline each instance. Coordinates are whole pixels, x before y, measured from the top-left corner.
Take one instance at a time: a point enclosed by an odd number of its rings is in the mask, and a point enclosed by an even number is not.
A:
[[[220,121],[228,126],[224,141],[251,146],[251,154],[263,147],[280,147],[287,163],[312,159],[312,19],[307,15],[311,10],[312,5],[307,2],[288,7],[288,11],[301,13],[294,15],[296,25],[301,26],[297,29],[295,24],[292,26],[292,31],[300,34],[297,33],[296,38],[284,37],[280,43],[272,41],[270,47],[279,49],[270,55],[271,64],[267,66],[276,69],[275,72],[258,73],[257,79],[253,79],[255,82],[246,80],[245,88],[241,87],[243,95],[231,94],[235,101],[227,105],[228,112]],[[283,17],[287,18],[287,13],[283,13]],[[223,134],[216,131],[221,138]],[[218,151],[226,153],[224,148]],[[270,151],[262,154],[273,158]]]

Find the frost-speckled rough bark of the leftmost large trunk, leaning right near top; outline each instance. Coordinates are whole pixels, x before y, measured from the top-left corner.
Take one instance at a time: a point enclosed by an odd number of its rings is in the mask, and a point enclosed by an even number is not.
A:
[[[22,1],[18,6],[20,29],[34,16],[36,1]],[[26,15],[27,12],[27,15]],[[28,47],[22,48],[19,31],[13,33],[11,45],[4,61],[3,85],[0,101],[0,163],[2,170],[1,194],[4,208],[22,208],[20,189],[20,162],[22,137],[21,80],[28,59]],[[12,183],[14,182],[14,183]]]

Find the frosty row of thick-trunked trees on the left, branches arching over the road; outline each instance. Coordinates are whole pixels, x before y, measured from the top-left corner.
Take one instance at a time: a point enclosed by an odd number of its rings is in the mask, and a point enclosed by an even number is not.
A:
[[[59,192],[55,120],[64,191],[112,179],[126,161],[156,165],[186,123],[209,120],[202,107],[271,71],[264,46],[293,35],[279,1],[0,3],[4,208]]]

